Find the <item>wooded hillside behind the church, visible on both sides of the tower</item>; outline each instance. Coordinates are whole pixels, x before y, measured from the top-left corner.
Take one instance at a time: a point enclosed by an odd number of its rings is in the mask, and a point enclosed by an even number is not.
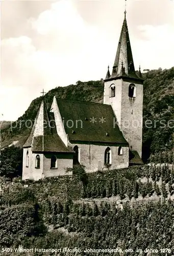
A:
[[[171,150],[173,147],[174,120],[174,68],[169,70],[152,70],[143,74],[144,102],[143,102],[143,160],[151,154]],[[45,95],[47,108],[51,107],[53,97],[72,100],[103,102],[104,82],[78,81],[75,85],[57,87]],[[30,119],[34,121],[41,97],[32,101],[29,109],[17,120],[13,129],[6,128],[2,133],[2,145],[18,141],[19,146],[24,144],[31,129],[26,129],[24,123]],[[152,120],[152,127],[145,127],[145,121]],[[164,120],[164,121],[163,121]],[[169,122],[169,125],[160,125]],[[22,122],[22,123],[21,123]],[[21,123],[21,127],[20,127]]]

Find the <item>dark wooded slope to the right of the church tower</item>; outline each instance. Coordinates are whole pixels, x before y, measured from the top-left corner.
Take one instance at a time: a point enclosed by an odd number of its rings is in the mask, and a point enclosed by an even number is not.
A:
[[[147,158],[173,148],[174,67],[152,70],[144,77],[143,153]],[[145,127],[146,120],[152,121],[151,128]]]

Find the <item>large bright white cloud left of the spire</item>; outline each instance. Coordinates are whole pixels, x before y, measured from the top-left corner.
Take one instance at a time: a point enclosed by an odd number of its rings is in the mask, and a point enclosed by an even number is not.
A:
[[[83,21],[71,1],[54,3],[51,9],[28,22],[36,32],[34,38],[2,40],[2,83],[6,96],[9,90],[18,88],[14,98],[10,98],[15,113],[7,110],[5,102],[1,104],[7,112],[6,119],[21,116],[33,98],[40,96],[42,88],[48,91],[78,80],[101,78],[101,52],[106,40],[102,31]]]

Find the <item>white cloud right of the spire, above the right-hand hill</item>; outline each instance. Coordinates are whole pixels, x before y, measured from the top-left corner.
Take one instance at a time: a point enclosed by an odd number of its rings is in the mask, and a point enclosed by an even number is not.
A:
[[[139,39],[135,40],[136,55],[143,69],[169,69],[173,66],[174,28],[168,24],[161,26],[139,26]],[[138,58],[137,58],[138,60]]]

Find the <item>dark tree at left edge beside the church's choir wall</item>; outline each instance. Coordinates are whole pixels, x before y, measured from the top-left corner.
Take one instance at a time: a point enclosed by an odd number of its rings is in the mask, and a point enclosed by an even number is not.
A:
[[[22,148],[13,145],[1,151],[0,176],[22,176]]]

